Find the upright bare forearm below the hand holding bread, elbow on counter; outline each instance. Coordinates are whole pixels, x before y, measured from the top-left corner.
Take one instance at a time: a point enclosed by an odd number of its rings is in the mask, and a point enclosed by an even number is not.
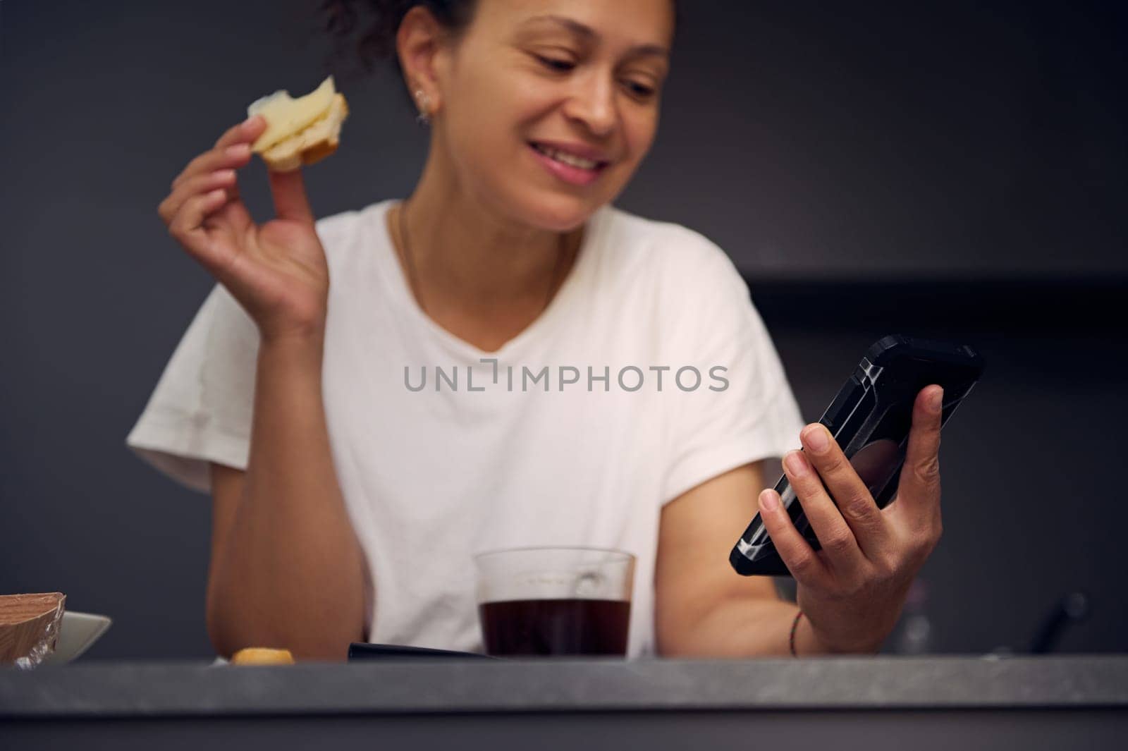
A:
[[[364,636],[363,577],[329,451],[321,342],[264,342],[243,494],[210,576],[212,639],[222,654],[343,660]]]

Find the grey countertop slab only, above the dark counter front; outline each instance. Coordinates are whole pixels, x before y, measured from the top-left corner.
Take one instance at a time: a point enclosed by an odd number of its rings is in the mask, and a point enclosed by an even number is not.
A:
[[[1128,656],[86,663],[0,670],[0,718],[1128,708]]]

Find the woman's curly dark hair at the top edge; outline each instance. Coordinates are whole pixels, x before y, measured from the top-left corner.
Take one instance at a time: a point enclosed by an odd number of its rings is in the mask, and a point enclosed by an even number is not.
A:
[[[675,26],[680,26],[678,2],[671,1]],[[477,0],[321,0],[325,30],[334,43],[331,60],[359,60],[365,74],[372,73],[377,61],[390,60],[397,78],[403,80],[404,71],[396,54],[396,32],[404,16],[415,6],[430,10],[447,33],[457,38],[474,20]],[[365,28],[359,29],[362,15],[371,16],[372,20]],[[344,80],[355,77],[352,71],[341,76]],[[407,106],[414,112],[415,104],[406,88],[404,95]]]

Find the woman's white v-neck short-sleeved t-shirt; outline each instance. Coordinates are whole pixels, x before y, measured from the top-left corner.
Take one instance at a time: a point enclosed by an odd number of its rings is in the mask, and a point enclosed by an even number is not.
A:
[[[394,203],[317,222],[323,395],[374,584],[369,639],[481,651],[474,554],[587,546],[637,557],[628,654],[653,654],[663,504],[799,448],[803,421],[747,285],[704,236],[605,205],[548,308],[484,352],[415,303],[385,223]],[[245,469],[257,345],[217,285],[127,445],[203,492],[209,461]]]

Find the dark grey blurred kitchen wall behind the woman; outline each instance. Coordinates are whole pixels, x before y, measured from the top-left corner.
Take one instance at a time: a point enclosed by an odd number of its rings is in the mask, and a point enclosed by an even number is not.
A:
[[[616,205],[731,255],[808,421],[884,334],[987,362],[885,650],[1023,652],[1081,593],[1056,648],[1128,651],[1128,5],[679,5],[658,140]],[[210,500],[124,445],[212,285],[157,215],[173,177],[253,99],[328,73],[352,112],[307,170],[317,215],[422,168],[400,81],[333,62],[318,6],[0,2],[0,593],[112,616],[90,659],[212,655]],[[240,185],[268,219],[261,161]]]

